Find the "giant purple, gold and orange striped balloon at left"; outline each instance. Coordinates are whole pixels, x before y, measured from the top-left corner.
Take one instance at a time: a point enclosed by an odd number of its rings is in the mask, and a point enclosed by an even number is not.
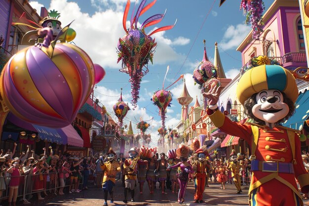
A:
[[[10,111],[31,124],[71,124],[90,95],[95,65],[82,49],[56,43],[50,58],[39,46],[16,53],[0,77],[1,96]]]

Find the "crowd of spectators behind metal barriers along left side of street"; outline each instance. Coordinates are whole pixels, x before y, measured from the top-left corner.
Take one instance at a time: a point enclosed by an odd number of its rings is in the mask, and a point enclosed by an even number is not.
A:
[[[8,200],[9,206],[16,206],[17,198],[27,205],[35,197],[43,200],[50,193],[79,193],[88,189],[89,180],[96,181],[94,157],[58,156],[51,148],[43,148],[44,153],[36,155],[29,146],[15,157],[16,146],[12,152],[0,152],[0,201]]]

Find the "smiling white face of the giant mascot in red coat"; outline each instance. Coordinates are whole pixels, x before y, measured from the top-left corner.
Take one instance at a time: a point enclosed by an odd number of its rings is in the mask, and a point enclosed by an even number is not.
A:
[[[256,95],[256,101],[252,113],[266,123],[276,123],[289,113],[289,106],[283,102],[283,95],[279,90],[260,91]]]

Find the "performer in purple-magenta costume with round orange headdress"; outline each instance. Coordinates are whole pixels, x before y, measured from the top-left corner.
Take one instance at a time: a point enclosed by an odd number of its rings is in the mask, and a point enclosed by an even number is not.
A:
[[[176,150],[177,157],[180,158],[181,162],[177,165],[171,166],[171,168],[178,168],[178,184],[180,187],[178,193],[178,203],[185,201],[185,192],[189,180],[189,173],[193,173],[192,166],[187,162],[189,155],[189,147],[186,145],[179,145]]]

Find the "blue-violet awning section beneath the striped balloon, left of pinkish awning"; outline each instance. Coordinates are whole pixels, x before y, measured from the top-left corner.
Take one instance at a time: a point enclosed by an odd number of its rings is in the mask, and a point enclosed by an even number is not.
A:
[[[61,135],[58,133],[57,129],[49,128],[46,126],[39,126],[36,124],[32,124],[33,127],[38,131],[39,138],[41,140],[46,140],[48,142],[62,142]]]

